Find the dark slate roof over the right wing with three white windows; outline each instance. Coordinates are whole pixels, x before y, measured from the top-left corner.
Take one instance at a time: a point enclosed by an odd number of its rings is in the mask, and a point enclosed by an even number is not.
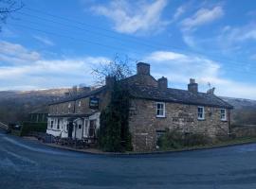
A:
[[[157,87],[141,85],[130,85],[129,91],[133,97],[142,99],[175,102],[190,105],[211,106],[227,109],[233,108],[231,105],[229,105],[229,103],[225,102],[214,94],[195,94],[186,90],[173,88],[160,90]]]

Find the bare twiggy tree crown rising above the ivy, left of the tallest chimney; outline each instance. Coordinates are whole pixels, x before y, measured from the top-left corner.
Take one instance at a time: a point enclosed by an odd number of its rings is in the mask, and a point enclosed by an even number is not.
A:
[[[119,55],[109,62],[101,62],[97,67],[92,68],[92,74],[95,77],[96,85],[102,86],[105,82],[105,77],[115,77],[116,80],[121,80],[130,77],[134,73],[132,60],[127,56],[122,60]]]

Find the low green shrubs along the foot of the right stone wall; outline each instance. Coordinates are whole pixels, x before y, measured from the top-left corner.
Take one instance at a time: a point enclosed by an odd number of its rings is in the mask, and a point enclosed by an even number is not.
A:
[[[183,133],[178,130],[167,131],[158,140],[161,149],[176,149],[186,146],[204,146],[210,143],[210,138],[200,133]]]

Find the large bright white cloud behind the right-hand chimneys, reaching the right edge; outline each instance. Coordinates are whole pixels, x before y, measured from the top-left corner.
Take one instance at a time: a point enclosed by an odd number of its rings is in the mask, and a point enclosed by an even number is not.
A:
[[[198,55],[172,51],[155,51],[144,58],[151,62],[153,76],[168,77],[170,87],[187,88],[191,77],[199,83],[199,89],[206,92],[208,82],[216,87],[216,94],[256,99],[255,83],[239,82],[225,77],[220,62]]]

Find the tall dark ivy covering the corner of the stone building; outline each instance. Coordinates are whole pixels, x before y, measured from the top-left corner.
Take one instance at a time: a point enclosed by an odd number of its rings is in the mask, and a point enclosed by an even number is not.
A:
[[[111,100],[101,112],[101,128],[99,130],[99,146],[104,151],[131,151],[131,133],[129,131],[128,90],[114,80]]]

